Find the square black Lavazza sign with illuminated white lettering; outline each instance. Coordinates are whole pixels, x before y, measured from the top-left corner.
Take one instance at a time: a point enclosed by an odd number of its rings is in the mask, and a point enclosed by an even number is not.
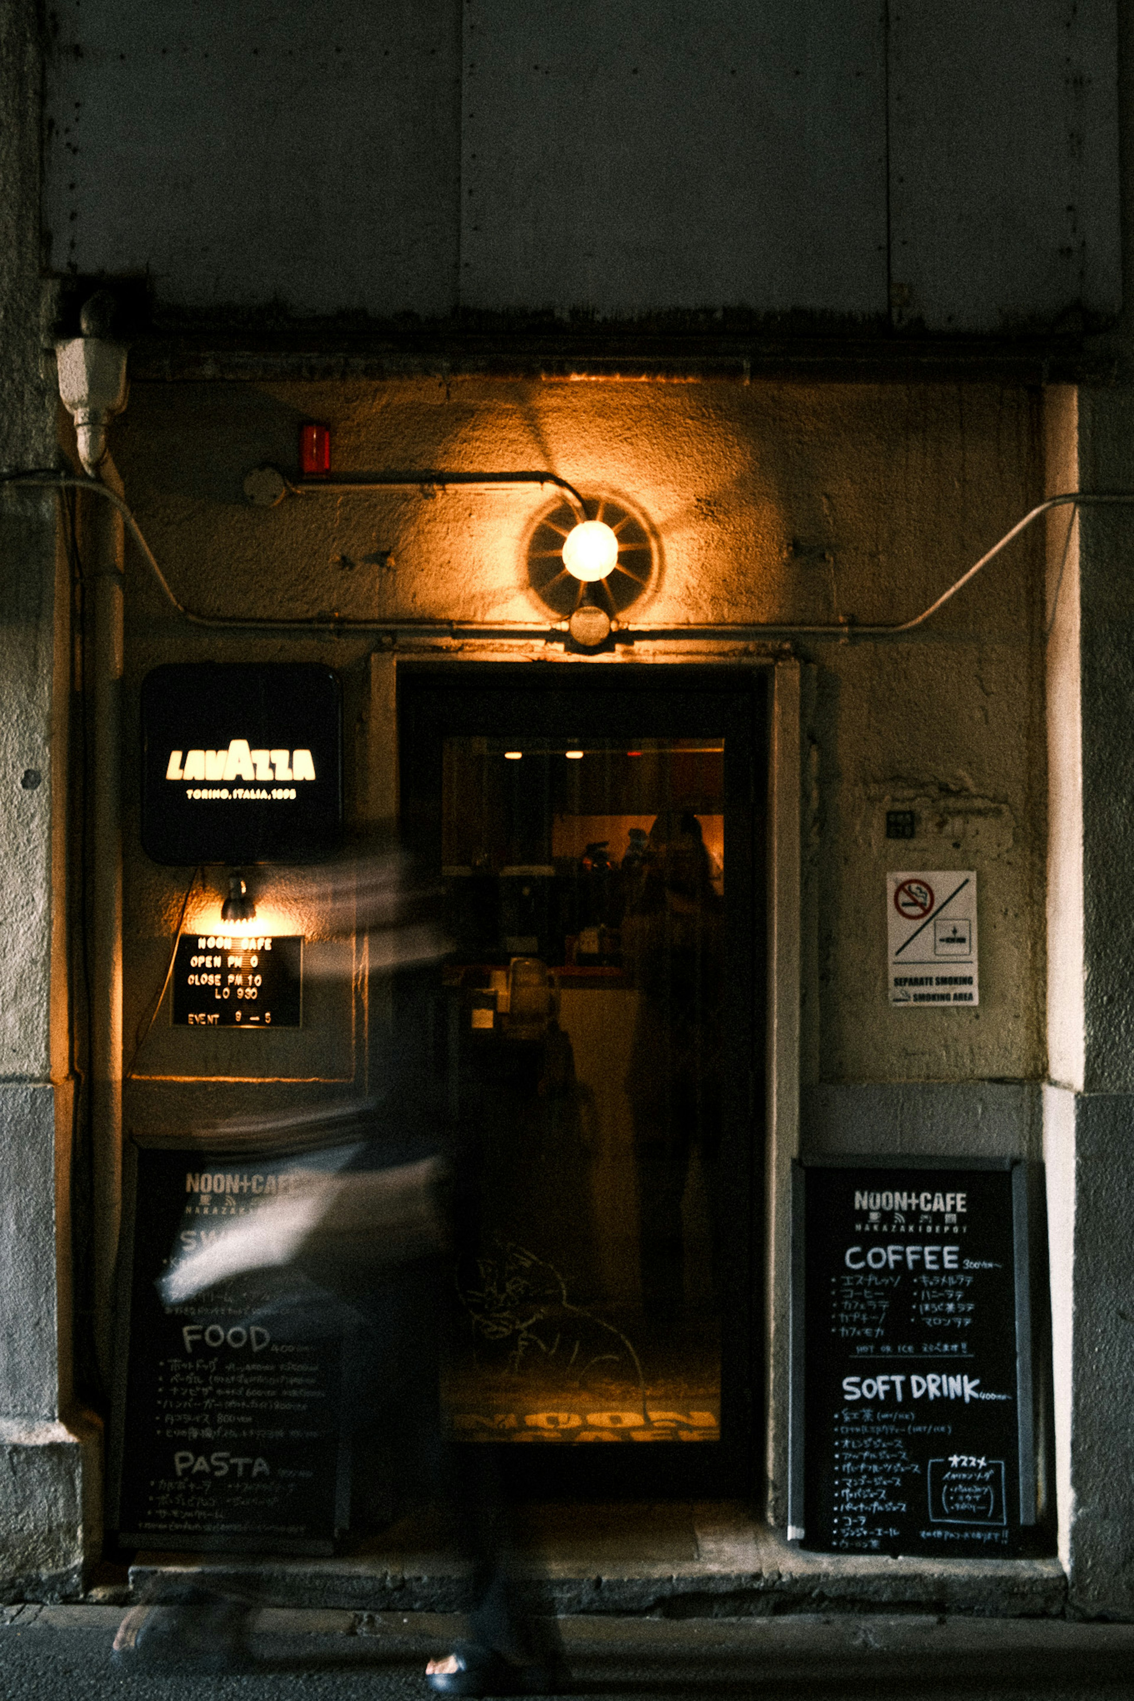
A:
[[[299,662],[156,667],[141,686],[155,862],[315,862],[342,837],[342,692]]]

